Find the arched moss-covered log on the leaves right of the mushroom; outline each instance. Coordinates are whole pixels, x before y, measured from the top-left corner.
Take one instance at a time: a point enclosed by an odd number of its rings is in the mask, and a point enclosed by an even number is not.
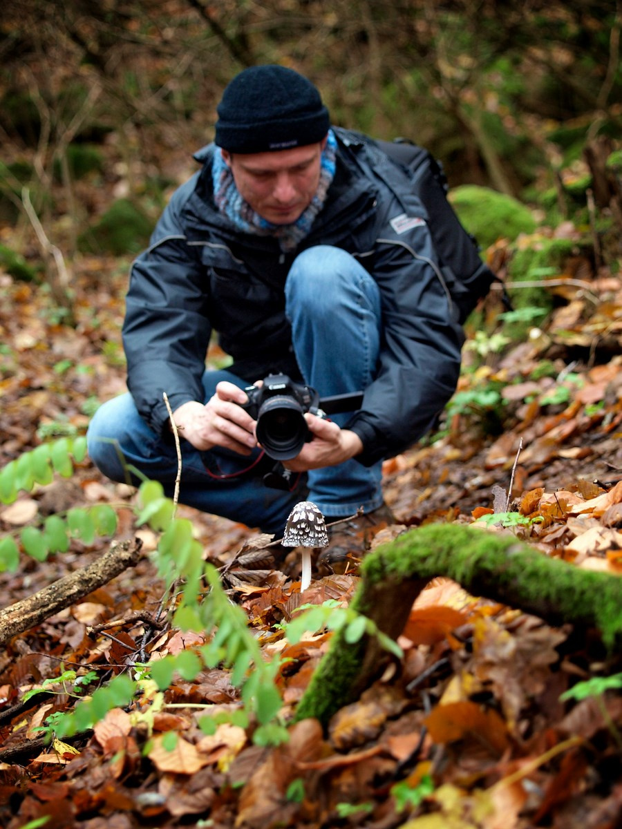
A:
[[[453,524],[424,526],[370,553],[361,576],[351,607],[391,638],[401,634],[425,584],[446,576],[474,596],[521,609],[552,626],[597,628],[611,650],[622,646],[622,579],[547,558],[510,535]],[[348,644],[343,633],[335,633],[296,719],[316,717],[327,724],[335,711],[357,700],[387,658],[375,637]]]

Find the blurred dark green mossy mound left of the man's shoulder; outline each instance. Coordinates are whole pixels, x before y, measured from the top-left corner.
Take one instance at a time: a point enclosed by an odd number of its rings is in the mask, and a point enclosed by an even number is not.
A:
[[[83,253],[138,254],[148,244],[153,221],[129,199],[115,201],[100,221],[80,235]]]

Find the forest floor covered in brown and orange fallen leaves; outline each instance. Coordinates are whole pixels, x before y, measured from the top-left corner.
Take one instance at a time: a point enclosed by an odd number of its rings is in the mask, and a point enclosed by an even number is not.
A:
[[[125,389],[124,271],[111,259],[75,264],[76,327],[62,324],[41,288],[0,274],[0,468],[43,440],[84,434],[97,402]],[[601,273],[586,293],[574,288],[546,330],[465,371],[443,431],[386,462],[396,526],[377,540],[406,527],[472,524],[508,512],[510,526],[491,531],[513,532],[577,568],[622,573],[622,279]],[[108,503],[119,516],[115,537],[138,535],[144,551],[135,568],[12,637],[0,654],[2,827],[622,826],[619,654],[606,652],[597,631],[570,620],[549,627],[520,608],[469,596],[449,579],[435,579],[415,602],[399,640],[403,657],[325,732],[302,720],[276,747],[253,744],[250,727],[228,723],[204,734],[197,725],[204,706],[238,705],[230,671],[215,667],[192,680],[178,677],[157,704],[145,693],[131,710],[109,711],[71,744],[34,742],[36,727],[71,698],[50,683],[53,693],[20,705],[24,694],[69,668],[100,678],[128,670],[144,631],[134,617],[162,602],[149,558],[158,540],[137,526],[135,500],[132,489],[105,480],[85,460],[72,477],[0,505],[7,535],[72,507]],[[216,565],[231,563],[258,536],[179,511]],[[109,539],[74,540],[45,561],[22,555],[16,571],[0,574],[2,604],[27,598],[108,547]],[[279,673],[284,722],[330,633],[309,633],[294,646],[278,624],[302,602],[347,604],[357,581],[352,565],[313,579],[302,597],[296,574],[279,570],[231,589],[266,656],[289,657]],[[101,628],[87,633],[119,618],[128,621],[114,636]],[[199,633],[163,628],[148,652],[154,658],[197,642]],[[582,694],[561,699],[586,681]],[[167,750],[170,732],[177,741]]]

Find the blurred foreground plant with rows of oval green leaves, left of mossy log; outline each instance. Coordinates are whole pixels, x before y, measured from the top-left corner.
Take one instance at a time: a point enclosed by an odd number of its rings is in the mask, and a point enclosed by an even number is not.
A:
[[[41,444],[2,469],[0,499],[12,502],[21,490],[30,491],[36,484],[49,483],[55,474],[69,478],[75,463],[84,457],[83,438],[62,438],[52,444]],[[175,587],[177,604],[173,625],[182,631],[204,633],[206,642],[148,664],[134,663],[127,672],[98,687],[91,696],[80,699],[72,710],[57,711],[48,717],[40,726],[42,734],[48,740],[55,736],[62,739],[92,728],[109,710],[131,705],[146,686],[155,688],[153,705],[156,700],[162,705],[163,692],[175,676],[192,681],[206,668],[223,666],[231,668],[231,685],[239,691],[241,707],[233,712],[203,716],[198,723],[201,729],[211,734],[223,722],[242,728],[252,724],[255,744],[283,743],[289,734],[280,715],[283,700],[276,681],[280,658],[265,660],[244,609],[231,603],[217,570],[203,560],[202,544],[194,537],[192,522],[175,516],[175,504],[164,495],[160,483],[141,484],[136,511],[139,526],[146,525],[160,534],[152,557],[158,576],[169,588]],[[66,516],[47,516],[41,527],[23,527],[20,541],[27,554],[43,560],[50,552],[67,550],[72,537],[88,544],[96,534],[109,535],[115,529],[116,513],[109,505],[95,505],[88,510],[75,507]],[[12,536],[0,539],[0,567],[15,570],[18,558],[19,548]],[[292,643],[298,642],[305,630],[318,628],[344,629],[347,642],[357,642],[366,634],[377,636],[384,647],[401,656],[401,648],[381,633],[371,619],[333,602],[299,608],[295,618],[283,626]],[[71,696],[78,696],[94,676],[92,671],[83,677],[75,671],[64,671],[28,693],[32,696],[36,691],[54,691],[60,685],[66,690],[70,688]]]

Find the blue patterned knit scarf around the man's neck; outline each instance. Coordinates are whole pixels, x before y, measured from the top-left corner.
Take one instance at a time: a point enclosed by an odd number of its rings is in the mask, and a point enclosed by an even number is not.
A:
[[[216,206],[227,216],[239,230],[260,236],[275,236],[284,253],[295,250],[297,245],[311,230],[311,225],[319,211],[322,210],[328,187],[335,175],[335,153],[337,140],[332,129],[328,130],[328,140],[323,148],[320,162],[319,183],[309,206],[291,225],[275,225],[259,215],[240,195],[233,180],[231,168],[228,167],[220,149],[216,147],[211,175],[214,181],[214,201]]]

